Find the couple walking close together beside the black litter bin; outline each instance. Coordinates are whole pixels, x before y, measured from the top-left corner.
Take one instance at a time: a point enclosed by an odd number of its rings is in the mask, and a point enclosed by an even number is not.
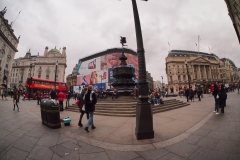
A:
[[[86,113],[88,122],[84,130],[89,132],[88,127],[90,125],[92,126],[92,129],[96,128],[93,123],[93,113],[95,111],[95,104],[97,103],[97,97],[93,91],[92,85],[89,85],[87,88],[84,88],[82,90],[80,96],[78,97],[78,100],[80,100],[80,104],[78,107],[81,113],[78,126],[79,127],[83,126],[82,118],[83,118],[83,115]],[[85,110],[83,109],[83,106],[85,106]]]

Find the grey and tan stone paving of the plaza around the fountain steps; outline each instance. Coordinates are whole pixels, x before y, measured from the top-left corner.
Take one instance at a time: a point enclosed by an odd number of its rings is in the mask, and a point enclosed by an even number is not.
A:
[[[139,141],[134,135],[135,117],[94,115],[97,128],[86,133],[77,126],[79,113],[61,112],[61,118],[72,119],[71,125],[49,129],[41,123],[35,100],[21,100],[19,107],[19,112],[13,111],[11,98],[0,100],[0,159],[240,159],[240,94],[236,91],[228,93],[224,114],[213,113],[214,99],[209,95],[189,106],[154,114],[154,139]]]

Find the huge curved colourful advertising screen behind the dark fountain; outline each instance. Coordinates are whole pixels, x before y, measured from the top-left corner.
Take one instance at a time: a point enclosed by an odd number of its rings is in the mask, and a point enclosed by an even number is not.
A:
[[[135,77],[133,80],[137,82],[139,77],[138,58],[129,53],[124,53],[124,55],[128,58],[126,60],[127,65],[135,69]],[[95,88],[102,88],[105,90],[106,87],[109,86],[108,83],[115,80],[112,76],[112,70],[120,66],[120,56],[122,56],[122,53],[117,52],[79,62],[77,70],[77,85],[82,86],[91,84],[96,86]]]

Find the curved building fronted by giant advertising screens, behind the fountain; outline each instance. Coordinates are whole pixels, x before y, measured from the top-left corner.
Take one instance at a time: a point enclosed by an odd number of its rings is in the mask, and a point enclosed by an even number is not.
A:
[[[124,54],[129,67],[135,69],[134,81],[138,82],[138,57],[137,53],[131,49],[124,49]],[[67,76],[68,89],[78,92],[78,88],[83,88],[91,84],[94,89],[111,89],[111,83],[115,80],[112,70],[119,67],[119,57],[122,55],[122,48],[111,48],[98,52],[87,57],[81,58],[73,68],[71,74]],[[153,78],[149,72],[146,73],[149,89],[153,89]]]

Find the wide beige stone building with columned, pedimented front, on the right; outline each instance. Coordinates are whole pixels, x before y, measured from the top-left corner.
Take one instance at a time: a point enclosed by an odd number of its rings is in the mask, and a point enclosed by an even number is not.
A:
[[[219,59],[215,54],[172,50],[166,57],[168,92],[178,93],[179,90],[188,88],[189,82],[190,87],[202,87],[204,92],[216,81],[230,85],[233,83],[236,69],[232,61],[226,58]]]

